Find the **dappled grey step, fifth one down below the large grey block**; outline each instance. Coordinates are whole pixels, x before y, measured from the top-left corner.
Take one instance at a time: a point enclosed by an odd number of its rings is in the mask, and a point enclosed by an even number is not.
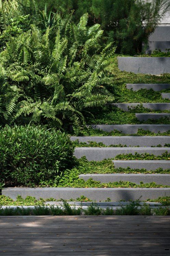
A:
[[[93,129],[100,129],[106,132],[111,132],[113,130],[121,131],[124,134],[136,134],[138,129],[149,130],[155,133],[158,132],[166,132],[170,130],[170,125],[149,125],[149,124],[141,124],[141,125],[88,125],[87,127],[91,127]]]

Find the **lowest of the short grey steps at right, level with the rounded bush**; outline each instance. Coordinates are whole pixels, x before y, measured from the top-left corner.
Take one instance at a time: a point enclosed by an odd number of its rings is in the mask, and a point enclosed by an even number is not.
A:
[[[162,168],[163,170],[170,169],[169,160],[113,160],[115,168],[127,168],[131,169],[146,169],[156,170]]]

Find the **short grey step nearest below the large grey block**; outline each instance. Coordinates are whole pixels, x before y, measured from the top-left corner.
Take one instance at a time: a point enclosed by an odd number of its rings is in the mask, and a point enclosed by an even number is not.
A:
[[[140,89],[153,89],[154,91],[170,89],[170,84],[126,84],[127,89],[133,89],[134,91]]]

